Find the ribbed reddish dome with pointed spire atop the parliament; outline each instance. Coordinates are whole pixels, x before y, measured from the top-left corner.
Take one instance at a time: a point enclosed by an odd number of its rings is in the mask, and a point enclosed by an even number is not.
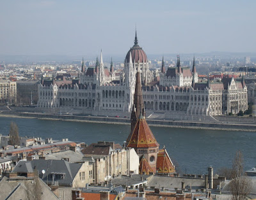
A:
[[[134,45],[132,48],[127,52],[125,57],[125,62],[130,62],[130,53],[132,55],[132,62],[147,62],[147,55],[142,50],[142,48],[138,45],[138,39],[137,39],[137,32],[135,33],[135,39],[134,39]]]

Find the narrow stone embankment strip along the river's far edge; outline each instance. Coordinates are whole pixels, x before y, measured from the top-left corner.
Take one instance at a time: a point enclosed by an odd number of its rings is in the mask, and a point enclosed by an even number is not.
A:
[[[38,118],[40,120],[62,120],[70,122],[90,122],[97,124],[130,124],[129,118],[118,117],[95,117],[78,115],[51,115],[48,113],[0,113],[0,117],[13,118]],[[148,125],[154,127],[177,127],[184,129],[208,129],[223,131],[250,131],[256,132],[256,125],[236,124],[234,122],[200,122],[200,121],[182,121],[182,120],[151,120],[147,119]]]

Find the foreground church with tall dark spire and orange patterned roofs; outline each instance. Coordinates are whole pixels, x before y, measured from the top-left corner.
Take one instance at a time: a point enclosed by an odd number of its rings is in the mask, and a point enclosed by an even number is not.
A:
[[[165,147],[159,150],[159,143],[145,118],[145,109],[141,90],[140,72],[136,73],[134,104],[131,113],[131,132],[127,138],[127,147],[134,148],[140,157],[140,174],[166,174],[175,172]]]

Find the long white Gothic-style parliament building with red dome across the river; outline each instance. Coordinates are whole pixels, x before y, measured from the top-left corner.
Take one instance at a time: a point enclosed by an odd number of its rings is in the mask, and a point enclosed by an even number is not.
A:
[[[77,78],[42,78],[38,86],[38,110],[54,113],[84,115],[130,116],[136,83],[141,73],[145,111],[147,115],[164,118],[212,117],[236,114],[248,109],[247,87],[244,79],[236,82],[232,76],[221,80],[200,79],[195,57],[192,69],[182,67],[177,57],[176,67],[164,67],[158,78],[150,71],[147,55],[138,45],[127,52],[124,70],[104,67],[102,52],[95,67],[84,66]]]

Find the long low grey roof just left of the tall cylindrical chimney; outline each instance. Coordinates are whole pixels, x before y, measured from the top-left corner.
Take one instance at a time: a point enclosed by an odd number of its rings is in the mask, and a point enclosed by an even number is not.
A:
[[[185,183],[186,189],[190,186],[192,189],[204,188],[205,180],[203,178],[186,178],[186,177],[173,177],[173,176],[156,176],[154,175],[150,180],[148,180],[148,187],[157,187],[165,189],[175,189],[181,188],[181,182]]]

